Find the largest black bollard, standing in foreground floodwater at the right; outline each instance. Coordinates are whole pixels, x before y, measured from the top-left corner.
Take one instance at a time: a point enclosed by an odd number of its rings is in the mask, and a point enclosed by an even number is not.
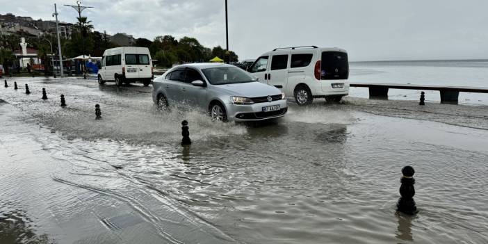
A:
[[[402,168],[402,174],[403,176],[400,178],[400,182],[402,183],[402,186],[400,186],[401,197],[396,204],[397,211],[414,215],[418,212],[414,201],[415,170],[412,166],[405,166]]]

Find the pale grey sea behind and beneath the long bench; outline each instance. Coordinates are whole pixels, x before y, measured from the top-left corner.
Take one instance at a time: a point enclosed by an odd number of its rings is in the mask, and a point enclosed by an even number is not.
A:
[[[351,83],[400,83],[488,88],[488,60],[417,60],[351,62]],[[389,99],[418,100],[421,90],[389,90]],[[368,97],[368,88],[351,88],[351,97]],[[425,90],[425,100],[440,101]],[[488,93],[460,92],[459,104],[487,106]]]

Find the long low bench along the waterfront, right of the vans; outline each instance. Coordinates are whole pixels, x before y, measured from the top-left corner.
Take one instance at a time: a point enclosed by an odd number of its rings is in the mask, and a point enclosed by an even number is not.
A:
[[[488,88],[475,88],[467,86],[435,86],[435,85],[412,85],[396,83],[350,83],[351,87],[369,88],[370,98],[388,98],[388,90],[439,90],[441,92],[441,104],[457,104],[459,92],[481,92],[488,93]]]

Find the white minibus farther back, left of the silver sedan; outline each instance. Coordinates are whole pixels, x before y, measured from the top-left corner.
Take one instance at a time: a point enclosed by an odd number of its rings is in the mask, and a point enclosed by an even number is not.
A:
[[[98,71],[99,84],[115,81],[117,86],[122,86],[122,83],[141,81],[144,86],[149,86],[153,78],[147,47],[115,47],[104,51]]]

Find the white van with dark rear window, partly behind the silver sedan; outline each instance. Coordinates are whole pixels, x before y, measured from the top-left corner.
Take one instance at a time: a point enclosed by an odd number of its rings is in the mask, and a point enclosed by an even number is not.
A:
[[[285,47],[261,55],[247,69],[300,106],[314,98],[341,101],[349,94],[348,53],[339,48]]]

